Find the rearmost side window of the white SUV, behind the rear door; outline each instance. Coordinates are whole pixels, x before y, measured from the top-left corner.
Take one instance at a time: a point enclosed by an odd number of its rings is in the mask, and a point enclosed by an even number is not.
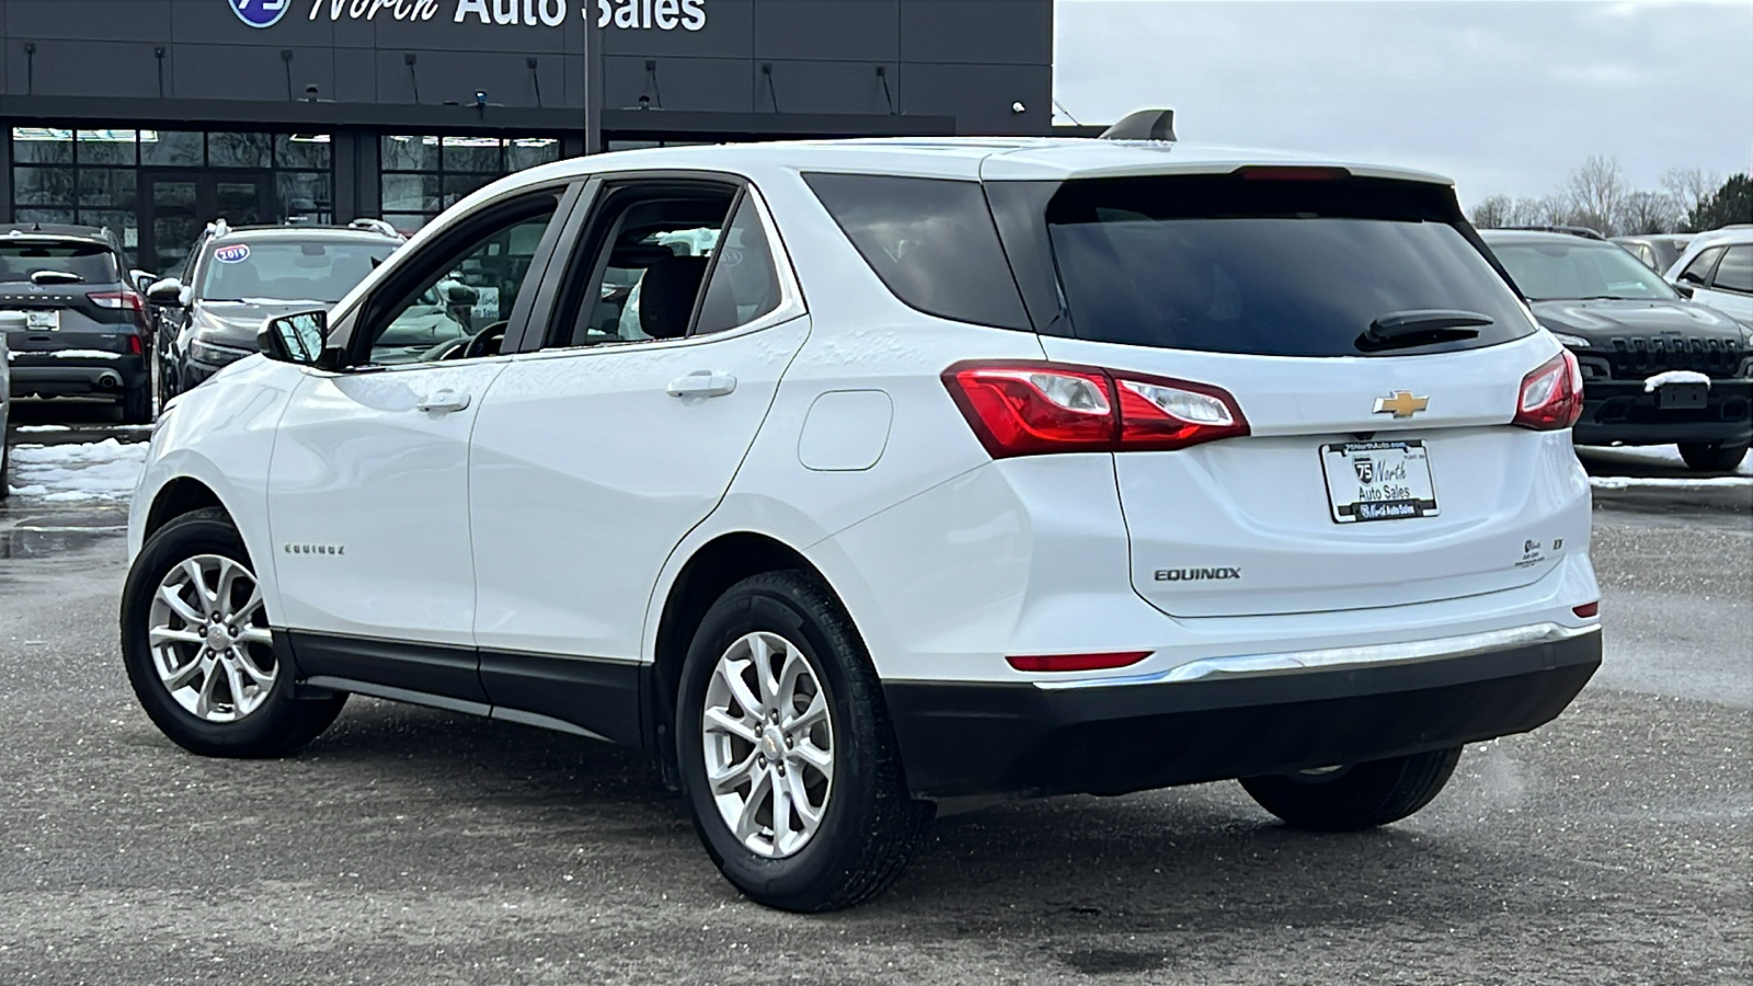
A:
[[[1029,328],[980,182],[803,177],[894,297],[947,319]]]

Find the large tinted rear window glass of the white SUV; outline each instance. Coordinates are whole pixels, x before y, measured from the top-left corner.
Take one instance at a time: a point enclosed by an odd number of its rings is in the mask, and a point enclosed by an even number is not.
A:
[[[1047,221],[1078,339],[1359,356],[1473,349],[1534,332],[1439,186],[1099,179],[1068,182]],[[1364,339],[1385,316],[1432,309],[1490,323],[1474,337],[1422,346]]]

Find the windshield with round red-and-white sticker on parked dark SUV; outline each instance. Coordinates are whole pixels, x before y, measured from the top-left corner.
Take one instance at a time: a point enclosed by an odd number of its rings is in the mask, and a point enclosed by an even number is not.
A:
[[[200,297],[207,302],[321,302],[333,305],[396,244],[226,240],[207,258]]]

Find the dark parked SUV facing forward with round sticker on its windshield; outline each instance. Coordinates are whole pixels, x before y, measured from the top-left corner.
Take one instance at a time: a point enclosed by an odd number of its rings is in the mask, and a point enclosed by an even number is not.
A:
[[[179,277],[153,284],[160,397],[256,353],[263,319],[333,305],[401,246],[384,223],[207,228]]]

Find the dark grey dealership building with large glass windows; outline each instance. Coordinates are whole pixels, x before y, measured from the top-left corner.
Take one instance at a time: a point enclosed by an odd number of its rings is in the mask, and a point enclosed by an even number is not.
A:
[[[0,0],[0,221],[412,230],[594,151],[1052,126],[1052,0]]]

